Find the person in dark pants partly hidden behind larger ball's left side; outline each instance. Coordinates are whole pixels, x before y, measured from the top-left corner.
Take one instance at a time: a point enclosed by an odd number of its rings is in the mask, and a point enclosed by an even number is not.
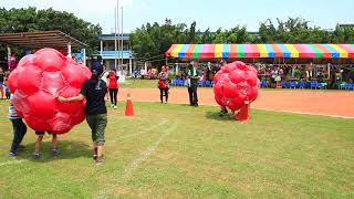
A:
[[[13,139],[10,149],[10,156],[14,157],[18,155],[18,149],[24,148],[20,144],[27,133],[27,126],[23,123],[22,118],[15,112],[14,106],[12,104],[12,100],[13,95],[11,95],[8,117],[11,121],[13,128]]]

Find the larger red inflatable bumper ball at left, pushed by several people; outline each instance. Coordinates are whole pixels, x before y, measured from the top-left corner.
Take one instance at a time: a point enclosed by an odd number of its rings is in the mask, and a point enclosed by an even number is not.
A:
[[[76,96],[91,76],[84,65],[53,49],[42,49],[20,60],[9,76],[13,105],[34,130],[67,133],[85,118],[84,102],[60,103],[56,97]]]

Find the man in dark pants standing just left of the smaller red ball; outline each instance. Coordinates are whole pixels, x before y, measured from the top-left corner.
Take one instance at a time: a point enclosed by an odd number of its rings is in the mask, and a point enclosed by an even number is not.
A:
[[[189,105],[198,107],[198,82],[200,78],[200,72],[198,72],[195,64],[190,64],[187,71],[187,87],[189,94]]]

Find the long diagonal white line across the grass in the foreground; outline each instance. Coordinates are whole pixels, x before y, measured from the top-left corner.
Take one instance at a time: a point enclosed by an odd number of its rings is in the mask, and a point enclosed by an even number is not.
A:
[[[167,136],[169,136],[171,134],[173,130],[175,130],[177,128],[177,123],[174,123],[173,126],[170,126],[168,129],[166,129],[164,132],[164,134],[162,134],[159,136],[159,138],[149,147],[146,148],[146,150],[144,153],[142,153],[136,159],[133,159],[128,166],[125,168],[123,175],[121,178],[118,178],[117,180],[117,185],[113,185],[112,187],[100,191],[96,196],[96,198],[101,199],[101,198],[107,198],[107,195],[111,193],[115,187],[117,187],[118,185],[124,185],[124,182],[132,176],[132,174],[142,165],[143,161],[145,161],[149,156],[152,156],[155,150],[158,148],[158,146],[160,145],[160,143],[163,140],[166,139]]]

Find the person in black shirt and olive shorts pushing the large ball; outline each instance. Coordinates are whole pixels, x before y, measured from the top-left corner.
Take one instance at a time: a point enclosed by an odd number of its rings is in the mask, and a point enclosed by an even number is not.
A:
[[[58,97],[61,103],[77,102],[86,98],[86,122],[92,133],[93,158],[96,165],[103,163],[103,148],[105,144],[104,132],[107,125],[107,108],[104,98],[106,92],[106,83],[100,80],[96,71],[92,71],[91,78],[84,82],[77,96],[70,98],[62,96]]]

